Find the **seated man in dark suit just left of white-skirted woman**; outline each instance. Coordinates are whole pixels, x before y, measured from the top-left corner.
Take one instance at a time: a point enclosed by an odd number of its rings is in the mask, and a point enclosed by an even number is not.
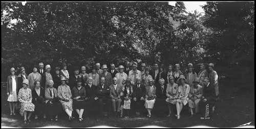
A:
[[[136,84],[133,86],[133,100],[132,100],[132,107],[136,116],[140,116],[143,110],[145,110],[144,103],[145,103],[145,95],[146,89],[144,84],[141,83],[141,78],[137,78]]]

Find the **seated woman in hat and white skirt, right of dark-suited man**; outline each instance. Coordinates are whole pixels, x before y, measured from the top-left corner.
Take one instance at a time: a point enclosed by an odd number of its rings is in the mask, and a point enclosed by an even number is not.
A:
[[[154,85],[154,80],[150,78],[148,80],[150,85],[146,86],[146,98],[145,98],[145,107],[147,109],[147,117],[151,118],[151,111],[154,107],[156,101],[156,87]]]

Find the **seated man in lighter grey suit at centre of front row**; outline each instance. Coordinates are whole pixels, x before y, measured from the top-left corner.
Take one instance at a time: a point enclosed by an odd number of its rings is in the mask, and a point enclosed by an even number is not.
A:
[[[117,78],[113,78],[113,84],[110,85],[110,98],[114,117],[119,117],[121,106],[121,85],[117,84]]]

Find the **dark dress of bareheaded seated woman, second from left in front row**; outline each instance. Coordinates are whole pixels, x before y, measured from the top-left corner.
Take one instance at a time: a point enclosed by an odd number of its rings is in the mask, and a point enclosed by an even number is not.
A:
[[[37,100],[35,100],[37,99]],[[37,95],[35,89],[32,91],[32,103],[35,105],[34,113],[36,115],[43,115],[46,112],[46,103],[45,103],[45,90],[40,88],[40,94]]]

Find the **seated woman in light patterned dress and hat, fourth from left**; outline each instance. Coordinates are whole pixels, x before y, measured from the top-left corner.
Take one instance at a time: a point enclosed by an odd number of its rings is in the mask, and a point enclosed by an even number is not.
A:
[[[62,104],[62,109],[68,114],[69,120],[72,121],[74,118],[72,117],[72,103],[73,100],[71,99],[72,94],[69,88],[69,85],[66,84],[66,78],[61,78],[61,85],[58,87],[58,97],[59,101]]]

